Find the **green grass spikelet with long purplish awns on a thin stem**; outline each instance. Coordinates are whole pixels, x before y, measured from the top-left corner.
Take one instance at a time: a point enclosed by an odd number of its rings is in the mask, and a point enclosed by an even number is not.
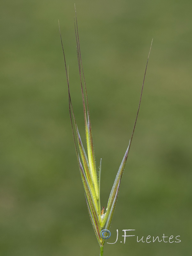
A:
[[[76,10],[75,10],[75,13],[76,13]],[[143,84],[142,84],[142,89],[141,89],[141,94],[140,94],[139,107],[137,110],[137,115],[136,115],[133,131],[132,131],[131,139],[129,141],[128,148],[124,154],[124,157],[123,157],[123,160],[119,167],[119,170],[117,172],[113,187],[111,189],[106,211],[104,211],[104,207],[102,207],[102,210],[101,210],[101,205],[100,205],[101,160],[100,160],[99,173],[97,173],[96,164],[95,164],[94,147],[93,147],[89,104],[88,104],[83,64],[82,64],[82,59],[81,59],[78,24],[77,24],[77,16],[76,15],[74,18],[74,23],[75,23],[75,35],[76,35],[77,60],[78,60],[80,86],[81,86],[81,94],[82,94],[83,110],[84,110],[85,138],[86,138],[86,147],[87,147],[86,150],[83,146],[81,136],[78,131],[75,114],[74,114],[73,106],[72,106],[72,102],[71,102],[71,95],[70,95],[70,89],[69,89],[69,78],[68,78],[68,68],[66,65],[65,52],[64,52],[64,47],[63,47],[63,42],[62,42],[61,32],[60,32],[60,39],[61,39],[61,45],[62,45],[64,63],[65,63],[65,72],[66,72],[67,84],[68,84],[69,115],[70,115],[73,139],[74,139],[74,143],[75,143],[77,162],[79,165],[81,179],[83,181],[83,186],[84,186],[84,191],[85,191],[85,199],[86,199],[86,203],[87,203],[87,208],[88,208],[90,219],[91,219],[91,222],[93,225],[93,229],[95,231],[97,240],[100,245],[100,255],[103,255],[103,245],[104,245],[106,239],[103,239],[100,236],[100,232],[103,229],[108,230],[110,228],[111,220],[112,220],[112,217],[113,217],[113,214],[115,211],[117,197],[118,197],[118,193],[119,193],[120,182],[121,182],[121,178],[122,178],[122,175],[124,172],[125,164],[127,162],[127,157],[128,157],[129,151],[130,151],[130,147],[131,147],[131,143],[132,143],[132,139],[133,139],[133,135],[134,135],[134,131],[135,131],[135,126],[136,126],[137,118],[138,118],[138,114],[139,114],[140,102],[141,102],[141,97],[142,97],[142,92],[143,92],[143,85],[144,85],[144,81],[145,81],[145,75],[146,75],[146,71],[147,71],[147,65],[148,65],[150,51],[148,54],[148,59],[147,59],[147,64],[146,64],[146,68],[145,68]],[[59,29],[60,29],[60,26],[59,26]],[[151,45],[152,45],[152,42],[151,42]],[[151,50],[151,47],[150,47],[150,50]]]

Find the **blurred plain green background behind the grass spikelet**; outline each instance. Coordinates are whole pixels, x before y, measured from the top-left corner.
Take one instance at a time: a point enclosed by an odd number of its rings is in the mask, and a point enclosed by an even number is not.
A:
[[[191,255],[192,3],[75,1],[106,206],[145,88],[104,255]],[[58,19],[79,130],[73,1],[1,4],[0,254],[99,255],[78,170]],[[137,243],[121,236],[180,236]],[[175,240],[174,240],[175,241]]]

